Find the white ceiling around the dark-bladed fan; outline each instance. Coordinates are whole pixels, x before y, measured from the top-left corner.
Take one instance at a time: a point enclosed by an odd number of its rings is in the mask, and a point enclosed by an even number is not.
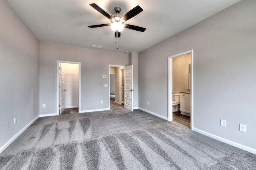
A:
[[[124,53],[140,52],[240,0],[7,0],[39,41]],[[124,15],[139,5],[144,11],[125,23],[146,28],[145,32],[124,28],[116,38],[110,23],[92,8],[96,3],[108,14],[120,7]]]

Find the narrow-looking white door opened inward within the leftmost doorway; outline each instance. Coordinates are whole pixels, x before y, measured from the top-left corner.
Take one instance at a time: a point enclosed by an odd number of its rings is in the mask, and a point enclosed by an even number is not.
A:
[[[65,65],[60,63],[60,113],[65,109]]]

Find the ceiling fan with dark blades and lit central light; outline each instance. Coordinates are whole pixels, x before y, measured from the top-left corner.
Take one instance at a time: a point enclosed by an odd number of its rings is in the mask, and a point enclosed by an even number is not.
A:
[[[141,31],[141,32],[144,32],[146,30],[146,28],[143,28],[143,27],[138,27],[135,25],[130,25],[130,24],[124,23],[125,21],[130,20],[132,17],[138,15],[140,12],[143,11],[142,8],[140,8],[140,6],[136,6],[135,8],[133,8],[132,10],[130,10],[129,12],[127,12],[124,15],[120,14],[121,8],[116,7],[116,8],[114,8],[116,13],[112,14],[111,16],[106,11],[102,10],[102,8],[100,8],[97,4],[90,4],[90,6],[92,6],[92,8],[94,8],[95,10],[100,12],[100,14],[102,14],[106,18],[108,18],[111,21],[111,23],[90,25],[88,27],[96,28],[96,27],[104,27],[104,26],[111,25],[112,30],[115,31],[116,41],[117,41],[117,38],[121,36],[121,31],[124,28],[133,29],[135,31]]]

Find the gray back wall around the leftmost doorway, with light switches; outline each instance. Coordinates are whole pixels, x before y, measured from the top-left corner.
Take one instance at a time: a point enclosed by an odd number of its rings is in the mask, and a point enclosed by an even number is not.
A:
[[[81,62],[83,112],[108,109],[109,64],[128,65],[128,54],[40,42],[40,115],[56,113],[56,61]]]

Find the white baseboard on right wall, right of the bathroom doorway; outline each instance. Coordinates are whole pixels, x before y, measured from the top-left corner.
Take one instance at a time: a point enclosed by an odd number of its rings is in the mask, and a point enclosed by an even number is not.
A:
[[[216,140],[218,140],[218,141],[224,142],[224,143],[226,143],[226,144],[228,144],[228,145],[232,145],[232,146],[237,147],[237,148],[239,148],[239,149],[246,150],[246,151],[248,151],[248,152],[251,152],[251,153],[253,153],[253,154],[256,154],[256,149],[252,149],[252,148],[250,148],[250,147],[246,147],[246,146],[244,146],[244,145],[241,145],[241,144],[239,144],[239,143],[235,143],[235,142],[230,141],[230,140],[228,140],[228,139],[224,139],[224,138],[222,138],[222,137],[218,137],[218,136],[216,136],[216,135],[213,135],[213,134],[211,134],[211,133],[202,131],[202,130],[200,130],[200,129],[193,128],[192,130],[193,130],[193,131],[196,131],[196,132],[198,132],[198,133],[201,133],[201,134],[203,134],[203,135],[206,135],[206,136],[208,136],[208,137],[211,137],[211,138],[213,138],[213,139],[216,139]]]

